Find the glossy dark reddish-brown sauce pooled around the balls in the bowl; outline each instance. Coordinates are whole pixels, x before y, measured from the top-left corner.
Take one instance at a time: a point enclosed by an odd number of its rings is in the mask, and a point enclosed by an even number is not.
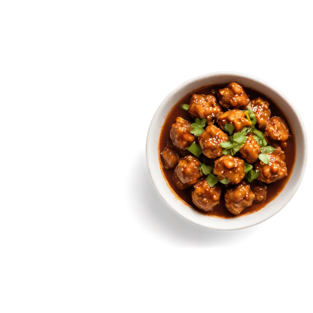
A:
[[[188,111],[183,110],[180,107],[180,105],[184,104],[184,103],[189,104],[190,99],[192,97],[192,94],[194,94],[194,93],[208,95],[208,94],[212,94],[212,90],[218,90],[221,88],[225,88],[227,85],[228,84],[202,87],[200,89],[192,91],[191,93],[189,93],[188,95],[183,97],[181,100],[179,100],[177,102],[177,104],[173,107],[171,112],[167,115],[167,118],[166,118],[166,120],[162,126],[162,130],[161,130],[161,136],[160,136],[160,140],[159,140],[159,160],[160,160],[160,165],[161,165],[161,169],[163,172],[163,176],[165,177],[168,186],[172,189],[172,192],[174,192],[178,198],[180,198],[183,202],[185,202],[191,208],[193,208],[193,209],[195,209],[201,213],[203,213],[203,211],[199,210],[192,202],[191,193],[194,190],[193,186],[191,186],[185,190],[179,190],[177,187],[175,187],[175,185],[173,183],[173,172],[174,172],[175,167],[172,169],[165,170],[162,166],[162,158],[160,156],[160,153],[163,151],[163,149],[166,146],[169,146],[169,147],[171,147],[172,150],[176,150],[177,152],[179,152],[181,156],[191,154],[188,150],[182,151],[182,150],[177,149],[175,146],[173,146],[172,141],[170,139],[170,130],[172,128],[172,124],[175,123],[175,120],[178,116],[180,116],[183,119],[185,119],[189,122],[192,122],[192,123],[194,121],[192,119],[192,117],[189,115]],[[273,101],[271,101],[265,95],[260,94],[259,92],[255,91],[255,90],[246,88],[244,86],[242,86],[242,87],[244,88],[245,92],[249,96],[250,100],[253,100],[257,97],[260,97],[264,100],[267,100],[269,102],[269,108],[271,110],[271,116],[279,116],[280,118],[282,118],[289,128],[291,136],[287,141],[288,142],[287,147],[283,149],[285,151],[285,163],[286,163],[288,175],[285,176],[284,178],[280,179],[280,180],[277,180],[276,182],[272,182],[270,184],[267,184],[266,199],[262,202],[259,202],[259,203],[253,202],[252,206],[245,208],[243,210],[243,212],[237,216],[242,216],[242,215],[254,213],[254,212],[264,208],[267,203],[272,201],[285,187],[285,184],[287,183],[287,181],[288,181],[288,179],[292,173],[292,170],[293,170],[293,167],[295,164],[295,157],[296,157],[295,135],[294,135],[293,129],[289,123],[289,120],[284,115],[282,110],[278,107],[278,105],[276,105]],[[235,156],[241,157],[239,152],[237,152],[237,154]],[[214,166],[215,160],[209,159],[209,158],[205,157],[203,154],[201,154],[201,156],[199,157],[199,160],[202,163]],[[258,180],[255,179],[252,183],[249,183],[249,182],[247,182],[247,183],[251,185],[257,181]],[[235,218],[236,216],[231,214],[224,205],[224,193],[225,193],[225,191],[228,188],[231,189],[231,188],[234,188],[235,186],[224,186],[222,184],[219,184],[219,186],[222,188],[222,195],[220,198],[220,203],[213,208],[213,211],[209,211],[209,212],[203,213],[203,214],[210,215],[210,216],[217,216],[220,218]]]

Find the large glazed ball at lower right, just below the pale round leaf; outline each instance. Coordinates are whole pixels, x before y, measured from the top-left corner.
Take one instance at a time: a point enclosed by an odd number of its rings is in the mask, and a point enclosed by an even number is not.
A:
[[[267,184],[275,182],[287,175],[286,163],[281,160],[280,156],[269,154],[269,164],[258,161],[254,164],[254,168],[259,171],[258,180]]]

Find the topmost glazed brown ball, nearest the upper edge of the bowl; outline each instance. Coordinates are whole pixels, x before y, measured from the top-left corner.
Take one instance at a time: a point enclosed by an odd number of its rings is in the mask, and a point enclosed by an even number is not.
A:
[[[244,89],[237,83],[230,83],[226,88],[218,90],[218,96],[219,104],[225,109],[245,110],[250,102]]]

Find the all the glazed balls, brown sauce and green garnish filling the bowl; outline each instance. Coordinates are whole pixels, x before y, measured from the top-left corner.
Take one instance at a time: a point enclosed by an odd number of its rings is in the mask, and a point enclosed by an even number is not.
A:
[[[203,87],[168,114],[159,141],[163,175],[178,198],[207,215],[263,208],[295,163],[294,135],[272,101],[232,82]]]

